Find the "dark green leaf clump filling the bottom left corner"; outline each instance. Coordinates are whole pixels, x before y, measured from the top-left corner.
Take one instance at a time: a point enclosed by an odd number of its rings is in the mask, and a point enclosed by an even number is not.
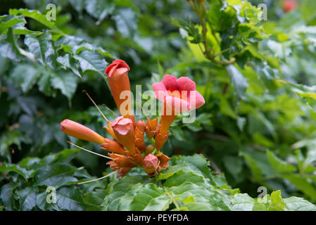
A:
[[[3,164],[0,172],[11,179],[1,187],[0,198],[6,210],[84,210],[91,207],[91,201],[84,203],[82,191],[73,185],[84,172],[61,163],[75,153],[77,150],[66,149],[42,160],[25,158],[16,165]],[[24,179],[18,179],[16,174]]]

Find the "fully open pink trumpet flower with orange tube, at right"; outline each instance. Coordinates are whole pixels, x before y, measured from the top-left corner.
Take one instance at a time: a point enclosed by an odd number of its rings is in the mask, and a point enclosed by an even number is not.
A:
[[[158,100],[163,101],[160,132],[165,134],[179,113],[201,107],[205,101],[196,91],[196,84],[188,77],[177,79],[165,75],[162,82],[154,83],[153,90]]]

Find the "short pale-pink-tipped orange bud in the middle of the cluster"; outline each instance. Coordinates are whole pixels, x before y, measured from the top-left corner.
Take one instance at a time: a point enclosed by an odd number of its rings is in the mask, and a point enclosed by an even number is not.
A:
[[[122,146],[127,148],[129,153],[135,155],[135,135],[132,120],[120,116],[112,122],[111,127]]]

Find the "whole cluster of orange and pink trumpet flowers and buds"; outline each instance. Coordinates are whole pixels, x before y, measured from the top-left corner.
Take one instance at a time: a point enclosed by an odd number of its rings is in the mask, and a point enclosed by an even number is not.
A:
[[[158,118],[151,120],[147,117],[146,122],[136,121],[130,107],[128,71],[129,66],[123,60],[114,60],[105,71],[120,116],[113,122],[106,119],[108,126],[104,128],[115,141],[106,139],[72,120],[63,120],[61,131],[77,139],[100,144],[101,149],[109,152],[108,157],[111,160],[107,164],[113,171],[118,171],[118,177],[125,176],[133,167],[143,167],[148,177],[153,177],[161,169],[169,167],[170,158],[160,150],[168,139],[170,124],[179,113],[203,105],[204,99],[196,91],[196,84],[191,79],[187,77],[177,79],[172,75],[165,75],[162,82],[153,84],[155,96],[163,101],[164,106],[160,124]],[[145,134],[152,144],[146,145]]]

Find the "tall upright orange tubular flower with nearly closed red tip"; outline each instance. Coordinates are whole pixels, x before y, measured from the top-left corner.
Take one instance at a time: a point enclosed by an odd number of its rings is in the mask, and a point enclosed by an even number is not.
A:
[[[108,65],[105,73],[108,75],[108,85],[110,86],[110,91],[120,114],[128,117],[132,114],[131,88],[129,85],[127,71],[129,71],[129,66],[125,63],[125,61],[114,60],[113,63]],[[121,94],[122,99],[120,98]]]

